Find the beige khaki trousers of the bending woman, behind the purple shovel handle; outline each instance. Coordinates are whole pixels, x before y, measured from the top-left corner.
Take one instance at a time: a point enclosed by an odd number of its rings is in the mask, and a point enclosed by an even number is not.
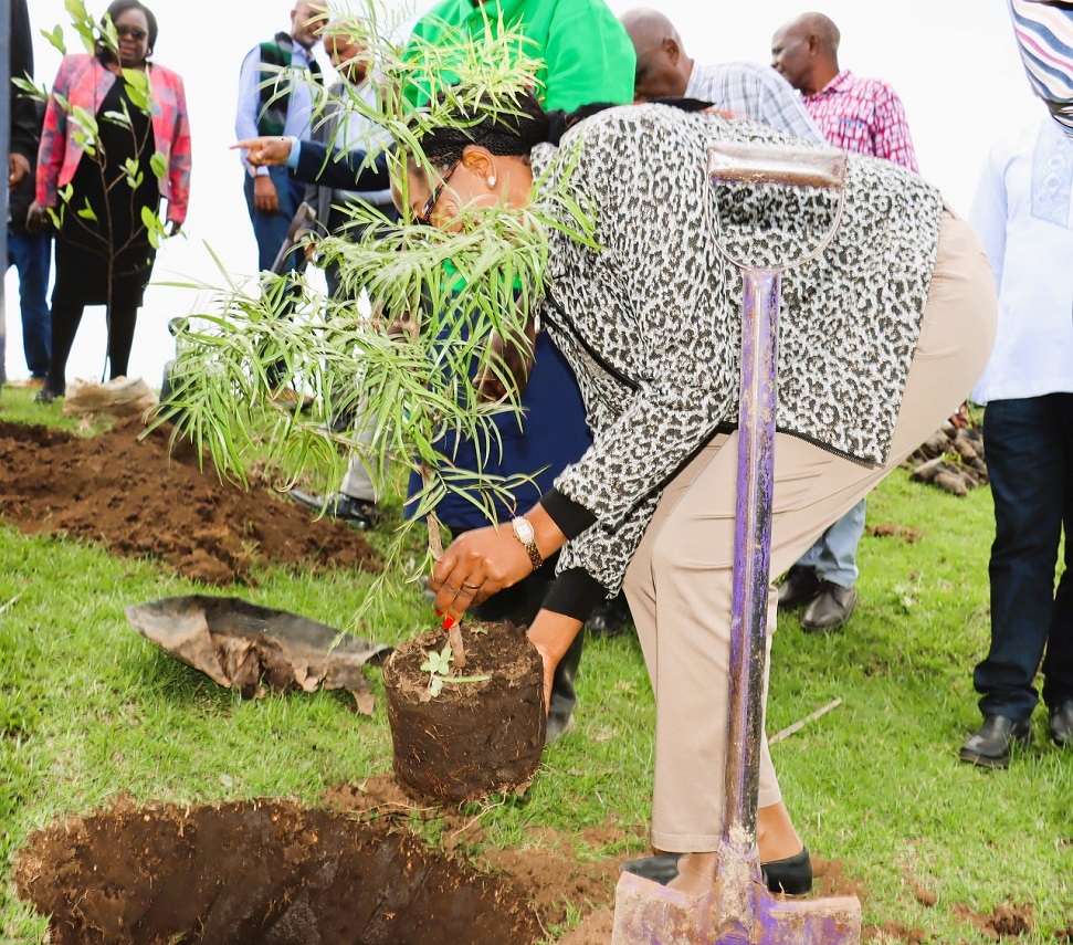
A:
[[[776,435],[771,574],[787,570],[958,408],[995,343],[997,301],[968,223],[945,212],[938,259],[888,463],[879,469]],[[723,832],[737,433],[671,481],[625,577],[656,701],[652,844],[711,851]],[[767,643],[776,626],[768,598]],[[768,674],[764,696],[767,702]],[[767,738],[759,806],[781,799]]]

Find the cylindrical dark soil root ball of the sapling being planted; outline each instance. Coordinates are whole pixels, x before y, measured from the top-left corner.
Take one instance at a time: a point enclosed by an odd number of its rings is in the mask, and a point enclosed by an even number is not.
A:
[[[466,665],[455,675],[487,679],[444,682],[432,696],[421,664],[444,648],[444,630],[407,640],[383,666],[396,776],[444,804],[528,787],[547,725],[544,666],[525,631],[513,623],[466,623],[462,634]]]

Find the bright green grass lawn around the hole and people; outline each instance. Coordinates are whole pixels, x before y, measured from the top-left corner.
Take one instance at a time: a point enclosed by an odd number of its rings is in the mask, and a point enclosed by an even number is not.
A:
[[[6,390],[2,416],[40,421],[43,411]],[[799,830],[816,854],[842,861],[869,925],[917,927],[936,943],[987,942],[959,906],[1031,903],[1035,931],[1020,941],[1066,941],[1073,752],[1048,742],[1041,710],[1037,746],[1009,771],[957,760],[979,723],[971,671],[988,640],[990,495],[954,498],[897,471],[870,500],[869,521],[916,529],[918,539],[864,538],[860,602],[845,632],[807,636],[788,618],[775,641],[769,732],[843,700],[772,746]],[[263,569],[254,587],[232,592],[344,627],[369,582]],[[56,818],[119,796],[316,804],[330,785],[390,769],[379,671],[368,671],[372,718],[340,693],[243,702],[162,655],[123,615],[130,603],[203,591],[220,592],[150,561],[0,525],[0,942],[42,939],[45,922],[15,900],[11,864],[28,833]],[[360,631],[390,643],[431,618],[414,589],[382,626]],[[533,827],[571,834],[609,817],[646,823],[653,706],[632,637],[590,642],[579,694],[577,728],[548,749],[525,797],[482,815],[488,843],[516,844]],[[922,889],[934,905],[917,900]]]

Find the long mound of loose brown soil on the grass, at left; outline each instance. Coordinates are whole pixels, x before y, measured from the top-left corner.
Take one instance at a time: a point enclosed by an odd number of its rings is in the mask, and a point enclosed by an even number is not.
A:
[[[138,418],[84,439],[0,423],[0,517],[27,534],[101,542],[156,558],[193,580],[250,580],[257,560],[376,570],[364,536],[273,495],[217,477],[188,441],[169,455],[170,428],[145,439]]]

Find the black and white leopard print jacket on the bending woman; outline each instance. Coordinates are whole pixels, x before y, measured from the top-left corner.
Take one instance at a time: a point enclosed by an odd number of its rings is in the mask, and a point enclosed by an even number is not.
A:
[[[616,592],[663,485],[737,423],[743,277],[803,255],[827,232],[831,191],[720,187],[715,140],[824,147],[766,125],[661,105],[612,108],[532,155],[534,178],[569,178],[600,249],[555,230],[543,325],[570,361],[593,444],[556,489],[596,523],[559,570]],[[539,199],[537,197],[537,199]],[[887,161],[851,156],[839,230],[782,282],[778,429],[865,464],[886,460],[935,265],[941,198]]]

